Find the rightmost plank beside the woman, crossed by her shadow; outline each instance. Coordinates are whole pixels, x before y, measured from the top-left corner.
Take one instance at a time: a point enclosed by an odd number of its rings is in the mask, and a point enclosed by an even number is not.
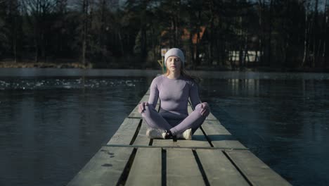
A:
[[[201,127],[214,147],[245,148],[218,120],[205,120]]]

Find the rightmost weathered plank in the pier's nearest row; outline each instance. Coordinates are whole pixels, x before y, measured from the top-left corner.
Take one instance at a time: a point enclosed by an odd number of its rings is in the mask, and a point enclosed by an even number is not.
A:
[[[251,151],[225,151],[252,185],[290,185]]]

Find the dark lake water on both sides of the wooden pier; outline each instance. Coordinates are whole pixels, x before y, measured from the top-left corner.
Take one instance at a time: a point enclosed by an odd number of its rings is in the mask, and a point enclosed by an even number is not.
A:
[[[0,185],[65,185],[156,73],[0,69]],[[262,161],[293,185],[329,185],[328,74],[195,74],[202,101]]]

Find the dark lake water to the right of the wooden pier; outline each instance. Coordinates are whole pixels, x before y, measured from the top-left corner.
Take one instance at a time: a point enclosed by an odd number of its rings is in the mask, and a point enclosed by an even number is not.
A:
[[[329,81],[205,79],[202,98],[293,185],[329,185]]]

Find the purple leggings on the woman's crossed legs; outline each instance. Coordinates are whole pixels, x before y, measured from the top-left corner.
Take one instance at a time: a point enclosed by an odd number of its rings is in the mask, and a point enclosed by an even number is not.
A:
[[[198,104],[195,106],[195,110],[188,116],[184,114],[176,115],[158,113],[152,104],[148,104],[141,114],[150,128],[170,130],[172,135],[177,135],[188,128],[192,128],[194,133],[202,125],[206,117],[201,116],[200,109],[201,104]]]

